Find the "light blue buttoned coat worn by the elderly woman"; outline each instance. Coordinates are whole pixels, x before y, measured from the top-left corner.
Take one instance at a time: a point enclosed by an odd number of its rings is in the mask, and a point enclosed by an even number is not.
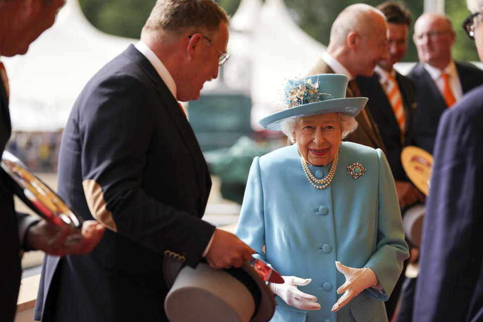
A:
[[[357,180],[347,167],[366,168]],[[327,167],[311,167],[325,178]],[[320,172],[321,171],[321,172]],[[380,149],[344,142],[332,183],[314,188],[305,177],[297,146],[287,146],[253,161],[235,231],[284,276],[311,278],[298,288],[315,295],[320,310],[299,310],[276,296],[271,321],[387,321],[387,300],[409,257],[392,174]],[[266,255],[262,247],[266,247]],[[338,312],[345,277],[335,261],[370,267],[385,291],[366,289]]]

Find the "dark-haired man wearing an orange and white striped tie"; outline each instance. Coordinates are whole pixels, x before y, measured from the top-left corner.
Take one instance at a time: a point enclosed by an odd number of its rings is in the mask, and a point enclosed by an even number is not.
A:
[[[386,147],[387,161],[404,215],[408,206],[424,201],[424,195],[406,176],[400,157],[405,146],[416,145],[416,91],[413,82],[393,67],[406,54],[411,14],[393,2],[385,2],[377,6],[377,9],[386,17],[389,57],[378,63],[374,68],[374,75],[358,76],[356,81],[362,96],[369,98],[366,108],[374,118]],[[389,320],[395,311],[403,280],[404,271],[391,297],[385,302]]]

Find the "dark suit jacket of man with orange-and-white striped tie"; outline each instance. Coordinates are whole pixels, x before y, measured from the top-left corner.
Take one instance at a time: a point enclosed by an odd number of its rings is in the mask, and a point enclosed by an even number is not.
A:
[[[392,107],[379,83],[376,74],[372,77],[356,77],[357,85],[362,96],[368,97],[366,108],[369,109],[386,147],[386,156],[391,167],[394,180],[408,181],[403,164],[401,164],[401,150],[415,143],[415,113],[416,92],[413,82],[396,72],[396,82],[403,100],[405,114],[405,137],[401,140],[401,131],[397,124]]]

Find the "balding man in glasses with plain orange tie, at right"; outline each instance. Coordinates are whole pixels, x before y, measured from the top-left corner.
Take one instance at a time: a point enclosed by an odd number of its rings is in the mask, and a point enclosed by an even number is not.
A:
[[[482,70],[452,59],[455,38],[451,21],[443,15],[423,14],[414,25],[413,40],[420,62],[408,77],[416,85],[416,140],[430,153],[441,114],[463,94],[483,84]]]

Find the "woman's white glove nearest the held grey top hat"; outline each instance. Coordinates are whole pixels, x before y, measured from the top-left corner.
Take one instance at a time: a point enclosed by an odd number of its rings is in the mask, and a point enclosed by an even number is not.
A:
[[[305,286],[311,279],[303,279],[296,276],[282,276],[285,283],[268,283],[270,290],[280,296],[288,305],[295,306],[301,310],[318,310],[317,298],[310,294],[305,294],[297,289],[297,286]]]

